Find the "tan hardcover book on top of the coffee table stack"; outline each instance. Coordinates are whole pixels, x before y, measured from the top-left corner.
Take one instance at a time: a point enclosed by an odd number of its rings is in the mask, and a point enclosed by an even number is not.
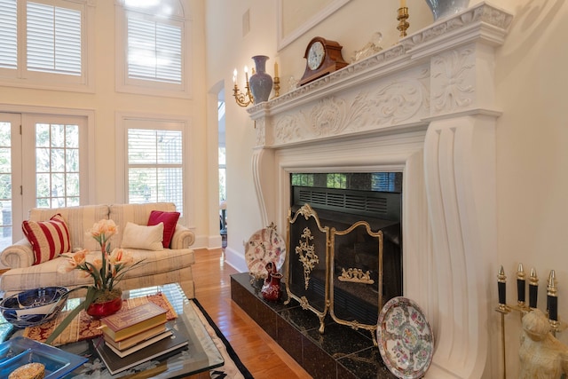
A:
[[[149,328],[165,324],[166,312],[159,305],[146,303],[101,319],[101,328],[106,336],[119,342]]]

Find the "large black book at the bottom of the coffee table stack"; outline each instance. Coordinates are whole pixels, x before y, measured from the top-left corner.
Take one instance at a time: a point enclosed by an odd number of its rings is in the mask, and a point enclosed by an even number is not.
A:
[[[114,375],[131,367],[136,367],[148,360],[157,359],[171,351],[177,351],[185,348],[188,344],[188,340],[184,334],[173,328],[171,329],[171,334],[171,336],[152,343],[124,358],[116,355],[116,353],[103,342],[102,338],[99,339],[96,349],[99,353],[100,359],[105,363],[108,372],[111,375]]]

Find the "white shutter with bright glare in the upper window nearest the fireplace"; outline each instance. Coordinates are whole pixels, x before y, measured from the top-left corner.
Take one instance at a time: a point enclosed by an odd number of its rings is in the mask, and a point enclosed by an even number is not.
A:
[[[182,26],[127,15],[128,77],[182,83]]]

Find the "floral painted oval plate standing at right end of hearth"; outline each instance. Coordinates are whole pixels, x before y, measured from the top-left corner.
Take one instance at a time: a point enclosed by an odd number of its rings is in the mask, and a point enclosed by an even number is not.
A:
[[[406,297],[394,297],[379,313],[377,343],[384,364],[402,379],[421,378],[434,354],[434,336],[420,307]]]

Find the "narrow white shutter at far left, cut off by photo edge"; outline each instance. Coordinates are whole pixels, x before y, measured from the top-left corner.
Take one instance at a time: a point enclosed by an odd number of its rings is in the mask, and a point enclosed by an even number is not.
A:
[[[18,12],[16,0],[0,0],[0,67],[18,68]]]

